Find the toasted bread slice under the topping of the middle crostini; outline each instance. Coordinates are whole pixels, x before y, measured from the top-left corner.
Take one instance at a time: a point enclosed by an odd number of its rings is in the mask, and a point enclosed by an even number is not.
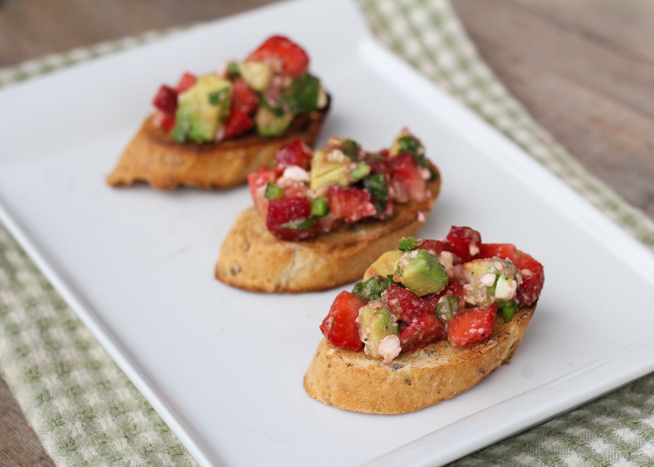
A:
[[[300,242],[286,242],[271,234],[256,208],[245,210],[227,234],[216,279],[256,292],[300,293],[332,289],[359,280],[370,263],[398,246],[398,238],[415,235],[438,197],[441,178],[428,182],[430,199],[396,204],[385,221],[354,223],[343,230]]]

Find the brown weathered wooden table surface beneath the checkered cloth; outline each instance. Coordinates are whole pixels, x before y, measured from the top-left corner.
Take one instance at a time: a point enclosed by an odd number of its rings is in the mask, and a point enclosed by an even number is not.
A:
[[[0,0],[0,67],[271,0]],[[513,94],[654,217],[654,2],[454,0]],[[0,379],[0,467],[53,466]]]

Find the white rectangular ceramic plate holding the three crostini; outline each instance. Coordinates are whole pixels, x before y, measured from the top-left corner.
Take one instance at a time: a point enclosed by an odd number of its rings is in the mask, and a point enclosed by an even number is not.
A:
[[[523,346],[467,393],[394,416],[309,398],[302,377],[337,290],[260,295],[213,279],[247,188],[105,185],[162,82],[271,33],[303,44],[334,96],[321,143],[374,150],[403,125],[424,140],[443,191],[421,236],[471,225],[545,265]],[[12,86],[0,109],[2,221],[202,466],[441,464],[654,370],[652,255],[379,46],[346,1],[197,27]]]

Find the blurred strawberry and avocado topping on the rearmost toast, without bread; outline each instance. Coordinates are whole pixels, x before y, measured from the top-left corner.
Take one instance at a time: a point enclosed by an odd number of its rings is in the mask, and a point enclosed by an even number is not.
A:
[[[221,141],[251,129],[263,137],[283,135],[296,115],[328,105],[308,68],[298,44],[270,37],[245,61],[229,61],[205,76],[185,73],[175,88],[163,85],[152,101],[154,125],[180,143]]]

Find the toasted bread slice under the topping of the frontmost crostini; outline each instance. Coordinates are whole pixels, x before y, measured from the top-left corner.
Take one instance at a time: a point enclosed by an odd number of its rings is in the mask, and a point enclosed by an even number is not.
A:
[[[509,363],[532,319],[536,303],[521,307],[508,323],[498,319],[489,340],[456,347],[441,340],[400,354],[391,364],[363,351],[322,339],[304,389],[341,409],[365,413],[406,413],[468,391],[501,364]]]

